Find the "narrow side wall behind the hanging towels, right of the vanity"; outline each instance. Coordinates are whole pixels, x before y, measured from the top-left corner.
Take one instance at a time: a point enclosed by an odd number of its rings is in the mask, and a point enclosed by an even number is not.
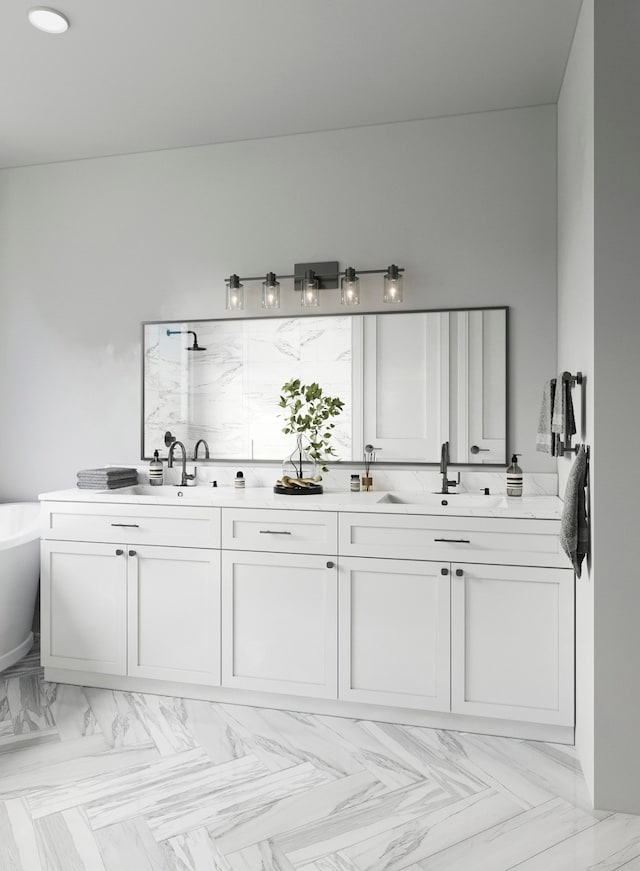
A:
[[[585,376],[579,440],[593,445],[593,0],[584,0],[558,100],[558,369]],[[574,389],[576,405],[580,394]],[[595,469],[596,455],[591,459]],[[570,459],[558,460],[559,492]],[[593,497],[593,490],[592,490]],[[594,574],[576,583],[576,748],[594,794]]]

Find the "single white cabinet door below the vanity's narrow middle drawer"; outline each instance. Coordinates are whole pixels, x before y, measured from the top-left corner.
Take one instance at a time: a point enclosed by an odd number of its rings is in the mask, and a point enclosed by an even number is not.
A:
[[[335,557],[223,552],[222,684],[337,697]]]

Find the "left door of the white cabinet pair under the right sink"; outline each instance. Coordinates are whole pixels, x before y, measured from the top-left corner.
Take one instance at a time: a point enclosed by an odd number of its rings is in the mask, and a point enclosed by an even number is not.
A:
[[[339,697],[448,711],[449,563],[340,560]]]

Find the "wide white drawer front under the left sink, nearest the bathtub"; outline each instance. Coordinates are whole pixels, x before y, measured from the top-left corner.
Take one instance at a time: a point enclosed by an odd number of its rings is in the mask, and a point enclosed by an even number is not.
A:
[[[41,537],[181,547],[220,547],[220,509],[43,502]]]

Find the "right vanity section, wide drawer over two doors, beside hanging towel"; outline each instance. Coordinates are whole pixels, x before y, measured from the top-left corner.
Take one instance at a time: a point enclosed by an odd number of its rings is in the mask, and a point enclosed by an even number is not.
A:
[[[442,678],[441,695],[421,700],[429,710],[573,726],[574,576],[559,553],[559,521],[344,513],[339,527],[340,553],[353,554],[341,557],[341,697],[382,703],[382,689],[384,704],[414,707],[403,687],[415,692],[420,680],[424,686],[425,672],[418,670],[422,657],[432,668],[432,693],[433,676]],[[357,559],[363,554],[368,557]],[[446,562],[435,561],[436,556]],[[436,597],[432,592],[427,606],[424,586],[414,585],[410,592],[406,581],[400,583],[403,571],[434,579],[442,570],[447,575],[441,585],[451,591],[450,707],[444,666],[439,669],[445,654],[434,640],[435,626],[439,637],[446,637],[449,613],[440,610],[445,593]],[[382,631],[376,624],[385,588],[387,622],[393,624],[393,578],[406,607],[396,612],[400,627]],[[426,615],[423,635],[416,611]],[[402,661],[405,629],[419,651],[408,664]],[[389,641],[389,662],[371,639],[376,632],[381,647]]]

